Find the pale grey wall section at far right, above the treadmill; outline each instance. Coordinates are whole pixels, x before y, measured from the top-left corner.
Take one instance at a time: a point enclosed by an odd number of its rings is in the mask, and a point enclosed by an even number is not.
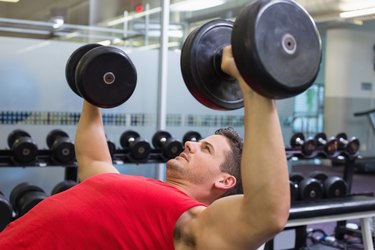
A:
[[[374,155],[374,135],[365,116],[353,113],[374,108],[375,34],[327,31],[324,127],[329,135],[346,132],[361,142],[363,155]]]

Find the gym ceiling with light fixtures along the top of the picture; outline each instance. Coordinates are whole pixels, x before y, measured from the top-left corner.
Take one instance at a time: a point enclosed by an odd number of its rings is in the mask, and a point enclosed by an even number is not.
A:
[[[170,4],[181,1],[171,0]],[[212,18],[235,18],[241,8],[252,1],[226,0],[220,6],[205,10],[171,12],[170,23],[186,33],[194,26]],[[158,30],[160,35],[161,2],[157,0],[20,0],[18,3],[0,1],[0,36],[69,41],[92,40],[93,37],[98,41],[118,38],[118,41],[132,40],[133,43],[137,38],[141,38],[144,41],[146,19],[148,33],[152,34],[151,31]],[[375,31],[374,16],[368,15],[365,18],[355,19],[339,17],[342,11],[375,7],[375,0],[297,0],[297,2],[310,13],[321,30],[345,27]],[[134,15],[137,6],[142,6],[143,11],[147,8],[155,10],[155,13],[147,18],[128,21],[126,27],[124,22],[108,25],[110,21],[124,17],[124,13],[128,16]],[[53,28],[58,18],[62,18],[64,24]],[[124,34],[125,28],[127,33]],[[73,33],[75,35],[72,35]],[[153,41],[152,36],[148,39]],[[181,37],[179,39],[181,40]],[[173,41],[173,38],[171,40]]]

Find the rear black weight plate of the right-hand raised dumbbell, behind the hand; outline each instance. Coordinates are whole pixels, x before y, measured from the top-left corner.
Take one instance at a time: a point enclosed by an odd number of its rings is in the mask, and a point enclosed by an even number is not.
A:
[[[189,34],[181,50],[181,73],[190,93],[215,110],[243,107],[238,82],[221,70],[222,49],[230,44],[233,22],[216,19]]]

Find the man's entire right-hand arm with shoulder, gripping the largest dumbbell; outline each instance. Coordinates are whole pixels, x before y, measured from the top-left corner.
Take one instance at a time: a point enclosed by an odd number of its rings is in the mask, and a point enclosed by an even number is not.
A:
[[[256,249],[288,219],[285,147],[274,100],[258,95],[244,82],[230,48],[223,51],[222,68],[239,81],[244,98],[244,194],[212,203],[192,220],[192,230],[202,249]]]

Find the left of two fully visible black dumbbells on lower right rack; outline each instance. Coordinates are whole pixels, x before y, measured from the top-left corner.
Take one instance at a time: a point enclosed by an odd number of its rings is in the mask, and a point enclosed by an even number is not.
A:
[[[298,185],[298,198],[303,201],[315,201],[323,197],[323,186],[319,180],[294,174],[289,180]]]

